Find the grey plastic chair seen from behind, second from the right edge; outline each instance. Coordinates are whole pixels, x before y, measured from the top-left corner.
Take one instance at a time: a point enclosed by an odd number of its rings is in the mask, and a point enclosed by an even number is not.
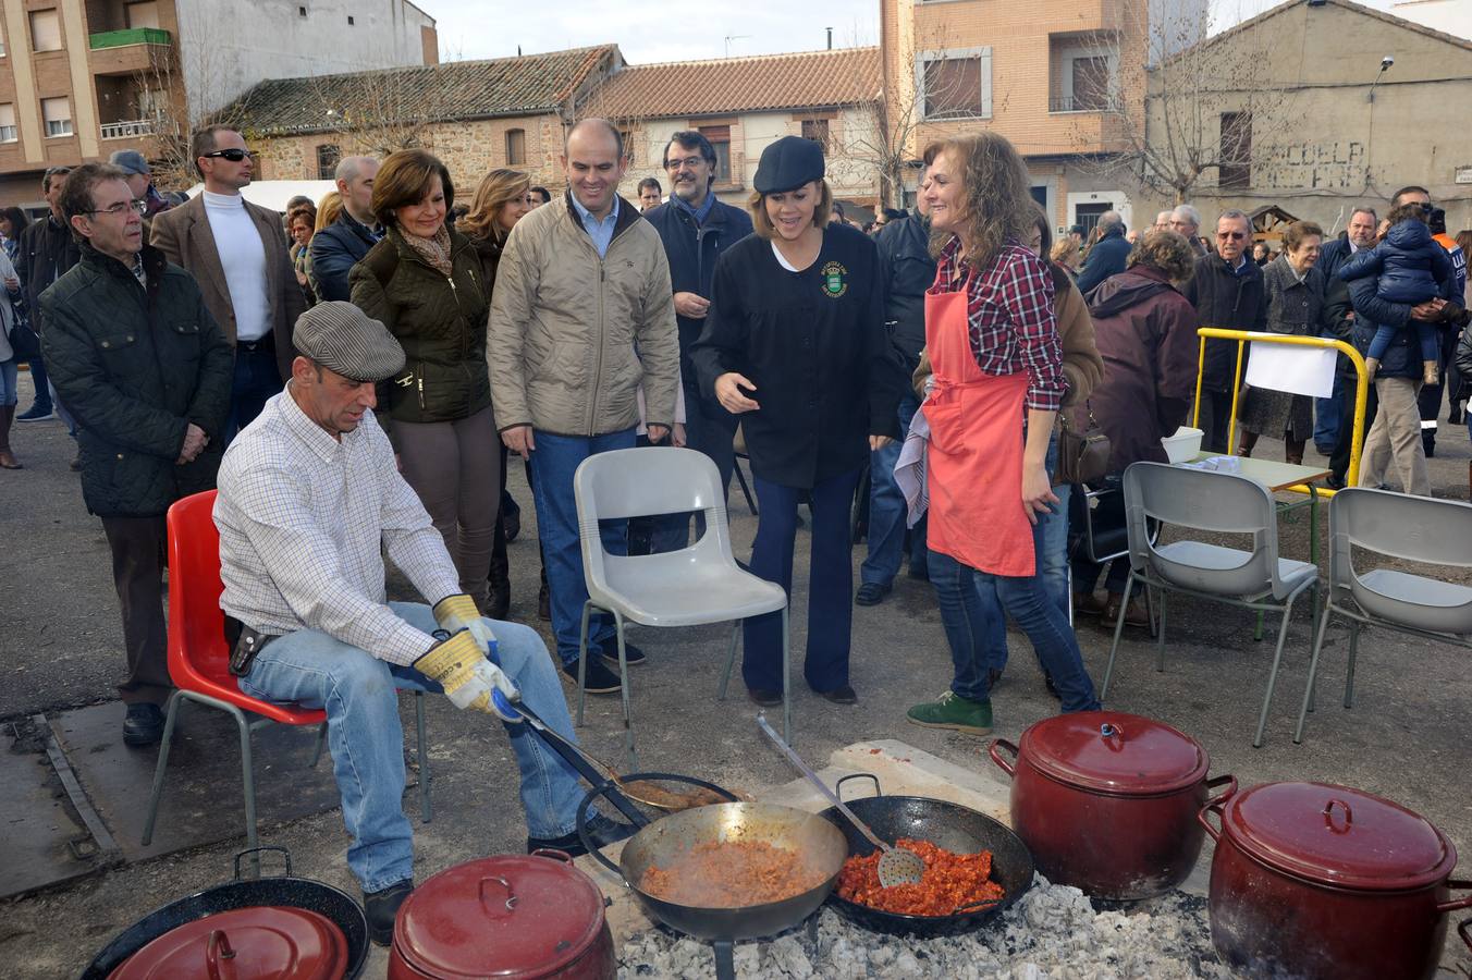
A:
[[[1198,531],[1251,534],[1253,550],[1189,540],[1156,544],[1150,537],[1151,518],[1161,524]],[[1104,670],[1100,697],[1108,693],[1119,637],[1125,628],[1125,608],[1136,581],[1144,583],[1147,589],[1154,587],[1160,594],[1160,630],[1156,634],[1157,671],[1166,670],[1167,592],[1247,609],[1281,611],[1278,649],[1273,652],[1267,693],[1263,696],[1257,736],[1253,739],[1253,748],[1262,748],[1292,603],[1306,589],[1313,589],[1317,597],[1317,567],[1278,558],[1278,514],[1272,494],[1260,483],[1235,474],[1153,462],[1133,464],[1125,471],[1125,521],[1129,533],[1129,581],[1125,584],[1125,602],[1114,624],[1114,643],[1108,650],[1108,667]]]

